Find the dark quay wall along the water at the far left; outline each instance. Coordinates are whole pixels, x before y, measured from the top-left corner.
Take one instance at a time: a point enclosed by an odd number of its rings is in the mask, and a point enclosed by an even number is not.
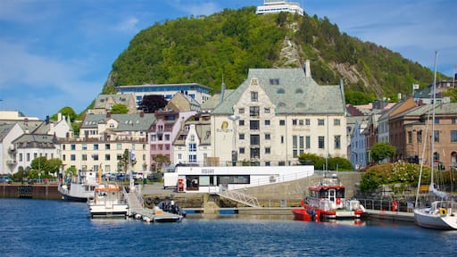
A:
[[[0,185],[2,198],[33,198],[46,200],[60,200],[62,195],[57,185]]]

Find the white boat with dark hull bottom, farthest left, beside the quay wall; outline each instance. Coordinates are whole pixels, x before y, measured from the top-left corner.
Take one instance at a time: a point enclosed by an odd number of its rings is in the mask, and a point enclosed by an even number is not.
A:
[[[96,172],[79,170],[78,177],[59,184],[58,191],[63,200],[72,202],[87,202],[87,197],[94,195],[96,187],[100,184],[96,178]]]

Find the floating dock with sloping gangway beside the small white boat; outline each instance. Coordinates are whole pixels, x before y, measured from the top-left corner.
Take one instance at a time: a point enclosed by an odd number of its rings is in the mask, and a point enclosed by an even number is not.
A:
[[[129,203],[129,217],[145,222],[179,222],[183,219],[182,215],[162,211],[158,207],[145,208],[142,196],[135,190],[126,192],[125,195]]]

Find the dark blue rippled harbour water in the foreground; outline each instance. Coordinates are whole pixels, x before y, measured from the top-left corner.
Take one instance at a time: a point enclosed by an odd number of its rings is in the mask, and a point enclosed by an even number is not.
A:
[[[259,219],[261,218],[262,219]],[[85,203],[0,199],[0,256],[455,256],[457,231],[252,215],[91,220]]]

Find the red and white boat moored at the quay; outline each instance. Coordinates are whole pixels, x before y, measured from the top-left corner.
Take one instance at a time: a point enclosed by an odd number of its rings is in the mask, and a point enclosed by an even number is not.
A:
[[[366,213],[359,200],[345,199],[345,186],[336,174],[324,176],[317,186],[308,187],[308,191],[309,195],[302,200],[302,208],[292,210],[295,220],[355,220]]]

